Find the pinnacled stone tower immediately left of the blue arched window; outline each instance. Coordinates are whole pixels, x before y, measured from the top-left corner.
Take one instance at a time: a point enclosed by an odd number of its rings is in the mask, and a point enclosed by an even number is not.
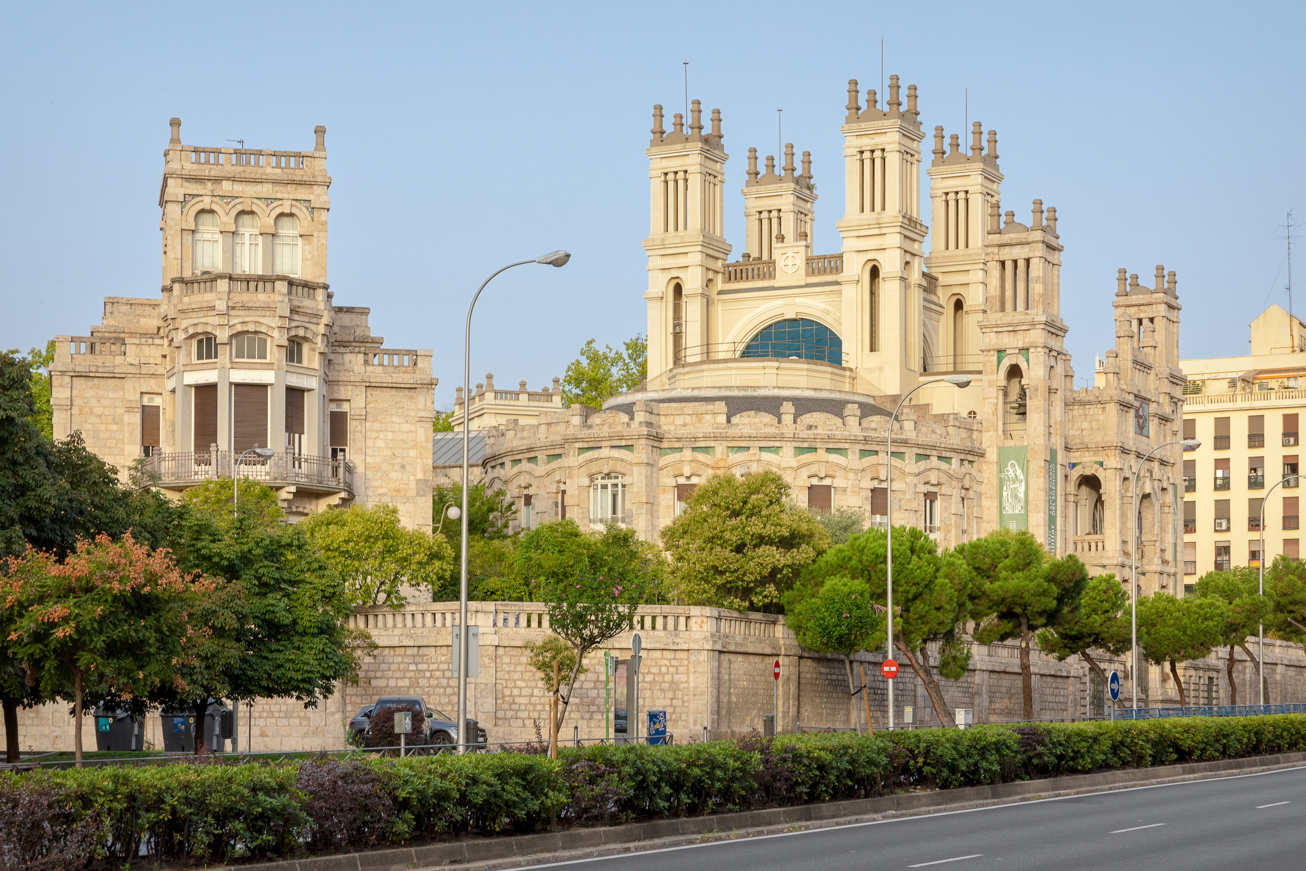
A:
[[[653,107],[649,157],[652,214],[648,252],[649,381],[654,383],[687,354],[703,354],[710,340],[713,296],[730,253],[722,229],[725,165],[721,110],[712,110],[712,131],[703,132],[703,110],[693,101],[690,129],[675,115],[662,128],[662,107]]]

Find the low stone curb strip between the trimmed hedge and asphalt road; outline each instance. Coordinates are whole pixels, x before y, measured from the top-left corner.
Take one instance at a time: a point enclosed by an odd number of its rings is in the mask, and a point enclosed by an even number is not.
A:
[[[465,837],[424,846],[368,850],[308,859],[236,866],[242,871],[407,871],[458,864],[488,871],[535,862],[560,862],[654,847],[797,832],[901,816],[964,811],[993,804],[1059,798],[1079,793],[1160,786],[1211,777],[1252,774],[1306,765],[1306,753],[1277,753],[1072,774],[1015,784],[899,793],[878,798],[773,807],[601,828],[576,828],[508,837]]]

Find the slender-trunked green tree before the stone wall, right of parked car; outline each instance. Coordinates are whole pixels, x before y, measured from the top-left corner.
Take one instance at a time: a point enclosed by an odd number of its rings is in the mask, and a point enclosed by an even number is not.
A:
[[[573,520],[559,520],[521,537],[518,576],[529,578],[532,598],[549,610],[550,628],[575,650],[555,729],[562,729],[585,654],[629,631],[661,571],[657,550],[632,529],[609,525],[601,534],[586,533]]]

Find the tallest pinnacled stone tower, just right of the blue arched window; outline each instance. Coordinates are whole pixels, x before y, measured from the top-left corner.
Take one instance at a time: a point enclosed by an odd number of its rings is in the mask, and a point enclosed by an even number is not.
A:
[[[921,121],[916,85],[899,99],[889,76],[889,101],[880,108],[874,90],[858,104],[857,80],[848,82],[844,133],[845,202],[836,225],[844,238],[844,350],[865,393],[901,393],[922,368],[922,299],[927,295],[925,235],[919,214]],[[934,302],[935,307],[938,300]]]

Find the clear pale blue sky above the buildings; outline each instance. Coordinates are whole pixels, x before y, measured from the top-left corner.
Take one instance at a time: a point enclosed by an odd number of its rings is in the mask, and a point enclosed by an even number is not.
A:
[[[720,107],[727,235],[750,145],[810,150],[815,247],[838,249],[846,81],[921,93],[926,129],[995,128],[1003,208],[1058,208],[1077,384],[1114,341],[1119,266],[1179,276],[1185,356],[1239,354],[1285,303],[1306,221],[1301,4],[10,4],[0,12],[0,347],[85,334],[106,295],[157,296],[167,119],[188,145],[304,149],[326,125],[336,302],[461,383],[562,375],[643,332],[653,103]],[[656,13],[656,14],[654,14]],[[926,142],[929,148],[929,142]],[[922,184],[922,189],[926,185]],[[1306,227],[1302,227],[1306,240]],[[1299,264],[1306,261],[1302,245]],[[1301,274],[1301,270],[1298,270]],[[1306,312],[1306,279],[1299,282]]]

